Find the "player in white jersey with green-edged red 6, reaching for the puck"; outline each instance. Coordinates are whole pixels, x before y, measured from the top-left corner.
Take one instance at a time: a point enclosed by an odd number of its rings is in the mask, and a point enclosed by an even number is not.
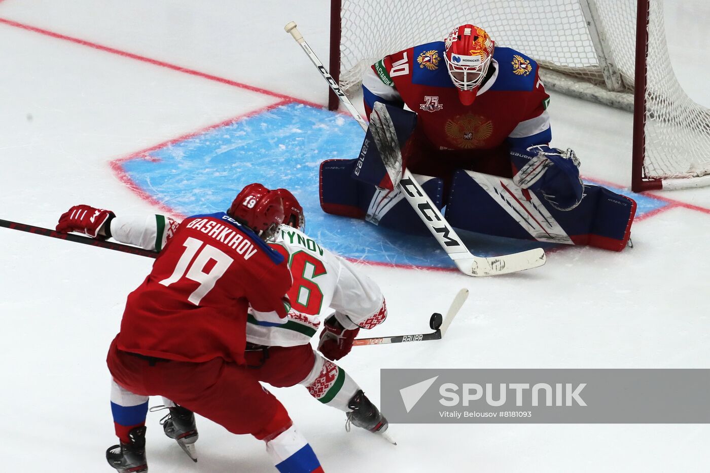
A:
[[[288,292],[292,308],[286,318],[250,309],[246,362],[259,381],[275,387],[301,384],[322,404],[344,411],[347,428],[352,424],[373,433],[384,433],[388,427],[386,418],[349,374],[333,362],[350,352],[360,328],[373,328],[385,320],[387,308],[383,294],[378,285],[359,274],[354,265],[303,233],[305,216],[297,199],[286,189],[276,191],[283,200],[285,217],[269,245],[288,259],[293,276]],[[83,221],[65,222],[65,230],[95,238],[114,238],[159,252],[180,223],[161,215],[113,216],[111,212],[111,217],[99,228],[85,225]],[[319,353],[312,349],[310,341],[322,321]],[[112,409],[131,411],[132,404],[123,406],[126,399],[130,400],[131,396],[124,396],[120,386],[113,386]],[[164,401],[165,407],[170,409],[161,420],[165,435],[175,439],[195,460],[195,416],[168,399]]]

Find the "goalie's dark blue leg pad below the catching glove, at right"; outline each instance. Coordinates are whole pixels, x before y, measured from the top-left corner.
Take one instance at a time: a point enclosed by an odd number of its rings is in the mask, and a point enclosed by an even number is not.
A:
[[[579,206],[560,211],[511,179],[459,170],[446,218],[454,227],[486,235],[621,251],[635,212],[633,199],[599,186],[586,186]]]

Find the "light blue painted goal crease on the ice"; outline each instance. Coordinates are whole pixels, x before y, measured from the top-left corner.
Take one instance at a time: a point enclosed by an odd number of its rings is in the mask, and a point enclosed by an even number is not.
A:
[[[306,232],[333,252],[393,265],[453,267],[433,238],[322,211],[320,163],[356,157],[363,136],[353,118],[305,104],[285,104],[170,143],[123,166],[138,187],[183,215],[225,211],[244,185],[261,182],[292,191],[305,211]],[[638,202],[637,215],[667,205],[638,194],[633,199]],[[466,232],[461,238],[483,255],[540,246]]]

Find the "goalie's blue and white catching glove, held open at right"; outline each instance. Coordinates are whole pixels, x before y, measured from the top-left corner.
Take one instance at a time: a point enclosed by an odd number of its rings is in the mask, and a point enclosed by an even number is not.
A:
[[[536,145],[527,150],[511,150],[510,156],[520,169],[513,176],[516,186],[542,194],[558,210],[568,211],[579,205],[584,184],[579,179],[579,159],[573,150]]]

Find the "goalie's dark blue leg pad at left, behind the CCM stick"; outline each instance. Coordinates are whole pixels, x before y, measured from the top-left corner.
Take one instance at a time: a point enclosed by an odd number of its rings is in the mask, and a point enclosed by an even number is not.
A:
[[[358,160],[326,160],[320,165],[320,206],[326,213],[361,218],[375,225],[415,235],[429,235],[399,189],[388,191],[352,179]],[[414,174],[422,189],[441,210],[442,179]]]

